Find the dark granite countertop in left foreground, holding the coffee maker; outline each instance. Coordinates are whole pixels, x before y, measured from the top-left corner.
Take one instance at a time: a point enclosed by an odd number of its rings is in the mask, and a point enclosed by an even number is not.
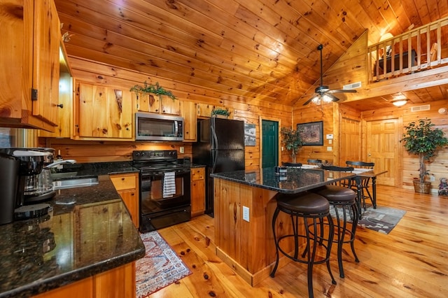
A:
[[[99,173],[114,171],[89,174]],[[57,190],[52,216],[0,226],[0,297],[29,297],[144,257],[125,204],[109,176],[98,176],[98,185]]]

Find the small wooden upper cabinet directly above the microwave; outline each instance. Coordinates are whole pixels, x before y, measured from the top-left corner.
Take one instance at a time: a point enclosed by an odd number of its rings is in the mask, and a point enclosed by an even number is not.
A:
[[[132,101],[139,112],[151,112],[169,115],[180,115],[179,99],[171,99],[165,95],[143,94],[132,92]]]

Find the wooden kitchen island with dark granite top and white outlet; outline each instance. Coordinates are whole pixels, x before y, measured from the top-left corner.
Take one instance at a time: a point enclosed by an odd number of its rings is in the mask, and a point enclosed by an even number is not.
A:
[[[277,193],[298,194],[355,177],[354,173],[288,168],[279,176],[274,168],[212,173],[214,178],[215,241],[218,257],[250,285],[267,278],[275,262],[272,215]],[[290,218],[280,214],[276,234],[290,233]],[[290,243],[293,250],[293,243]],[[287,246],[285,246],[288,249]],[[279,268],[290,260],[281,257]]]

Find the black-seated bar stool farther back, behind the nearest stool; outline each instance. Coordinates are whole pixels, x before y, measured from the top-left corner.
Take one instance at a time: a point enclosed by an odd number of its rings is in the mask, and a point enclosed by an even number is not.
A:
[[[322,169],[329,171],[353,171],[351,166],[322,166]],[[342,186],[342,180],[339,185],[324,185],[312,190],[328,200],[335,211],[333,219],[335,220],[335,234],[337,243],[337,263],[339,265],[339,276],[344,278],[344,267],[342,266],[342,246],[344,243],[350,243],[351,252],[355,257],[355,262],[359,262],[355,252],[355,235],[358,225],[358,207],[356,206],[356,192],[350,187]],[[348,182],[350,183],[350,182]],[[351,222],[349,221],[351,218]],[[347,227],[351,225],[351,227]],[[348,236],[348,239],[346,239]]]

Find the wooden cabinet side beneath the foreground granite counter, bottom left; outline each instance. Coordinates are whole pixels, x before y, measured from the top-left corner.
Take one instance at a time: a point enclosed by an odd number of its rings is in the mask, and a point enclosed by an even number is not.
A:
[[[135,297],[135,262],[102,272],[76,283],[44,292],[34,298]]]

